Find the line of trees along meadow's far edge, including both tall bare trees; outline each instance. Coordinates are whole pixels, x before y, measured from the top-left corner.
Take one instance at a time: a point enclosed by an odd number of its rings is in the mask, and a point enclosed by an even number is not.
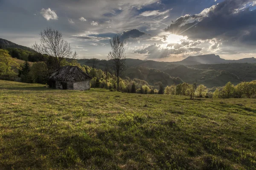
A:
[[[32,48],[36,53],[22,49],[8,48],[0,49],[0,79],[9,79],[27,83],[46,84],[50,74],[65,65],[76,65],[92,77],[91,88],[106,88],[127,93],[139,94],[172,94],[207,98],[255,98],[256,81],[241,82],[234,86],[228,82],[224,87],[216,88],[214,92],[209,91],[206,86],[180,83],[164,88],[162,82],[148,85],[140,79],[121,78],[125,71],[125,47],[119,35],[110,40],[111,51],[108,54],[108,64],[104,71],[96,69],[93,59],[93,66],[80,65],[77,61],[77,53],[73,52],[70,44],[62,38],[58,30],[47,28],[40,33],[40,44],[35,43]],[[17,64],[14,58],[25,59],[24,63]],[[29,64],[29,61],[34,62]],[[18,71],[17,71],[18,70]],[[17,73],[18,72],[18,73]]]

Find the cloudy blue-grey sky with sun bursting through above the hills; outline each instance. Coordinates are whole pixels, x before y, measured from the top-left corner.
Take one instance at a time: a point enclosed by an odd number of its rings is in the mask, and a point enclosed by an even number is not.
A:
[[[57,29],[81,59],[107,59],[115,34],[127,58],[256,57],[256,0],[0,0],[0,23],[0,38],[28,47]]]

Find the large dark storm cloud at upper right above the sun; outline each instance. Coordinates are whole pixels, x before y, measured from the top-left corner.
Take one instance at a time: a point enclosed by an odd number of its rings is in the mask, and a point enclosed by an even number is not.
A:
[[[184,31],[182,35],[194,40],[219,37],[222,40],[256,43],[253,38],[256,10],[250,10],[251,2],[253,0],[224,0],[200,14],[178,18],[165,30],[174,34]]]

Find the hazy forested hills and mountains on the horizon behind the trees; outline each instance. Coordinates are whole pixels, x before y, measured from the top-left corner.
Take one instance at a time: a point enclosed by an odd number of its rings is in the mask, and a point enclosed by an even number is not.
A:
[[[4,39],[0,39],[0,48],[17,48],[35,52],[31,48]],[[103,71],[108,63],[104,59],[77,59],[77,62],[90,67],[94,64],[96,68]],[[123,78],[141,79],[148,82],[149,85],[162,82],[165,86],[181,82],[193,83],[198,80],[199,84],[212,88],[224,86],[229,81],[236,85],[241,81],[255,80],[255,63],[254,57],[227,60],[215,54],[190,56],[178,62],[126,59],[127,69]]]

